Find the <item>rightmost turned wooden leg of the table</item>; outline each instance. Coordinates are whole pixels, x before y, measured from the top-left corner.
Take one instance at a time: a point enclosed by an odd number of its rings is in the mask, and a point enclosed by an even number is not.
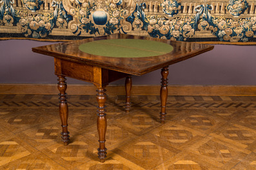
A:
[[[168,66],[167,67],[163,67],[161,70],[161,90],[160,90],[160,99],[161,99],[161,112],[160,112],[160,119],[161,119],[161,123],[164,123],[165,120],[165,115],[166,115],[166,101],[167,101],[167,96],[168,96],[168,76],[169,74],[169,70],[168,70]]]

